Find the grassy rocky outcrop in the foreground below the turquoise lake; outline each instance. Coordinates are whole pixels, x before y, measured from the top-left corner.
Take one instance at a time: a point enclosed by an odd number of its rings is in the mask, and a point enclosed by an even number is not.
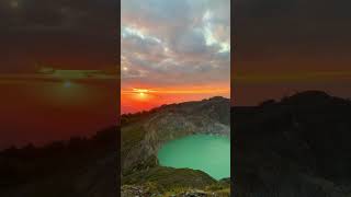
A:
[[[228,179],[215,181],[201,171],[157,166],[124,178],[122,197],[230,196]]]

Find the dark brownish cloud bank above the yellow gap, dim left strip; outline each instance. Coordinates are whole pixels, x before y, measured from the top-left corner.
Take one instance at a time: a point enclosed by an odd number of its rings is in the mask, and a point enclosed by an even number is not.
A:
[[[36,61],[69,69],[116,69],[118,1],[1,0],[0,72]]]

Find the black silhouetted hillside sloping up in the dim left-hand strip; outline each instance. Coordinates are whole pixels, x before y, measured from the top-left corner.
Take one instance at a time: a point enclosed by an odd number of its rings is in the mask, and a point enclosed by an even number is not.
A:
[[[0,196],[116,196],[117,128],[0,152]]]

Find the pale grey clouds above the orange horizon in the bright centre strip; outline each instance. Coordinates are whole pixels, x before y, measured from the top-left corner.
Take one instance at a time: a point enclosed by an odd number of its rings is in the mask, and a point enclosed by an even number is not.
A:
[[[122,25],[143,34],[122,38],[122,55],[128,59],[131,69],[146,73],[133,80],[158,85],[204,81],[229,83],[229,53],[218,53],[219,44],[208,45],[204,34],[205,25],[211,23],[214,38],[229,42],[229,2],[122,1]],[[203,20],[208,11],[212,18]],[[127,72],[124,77],[127,78]]]

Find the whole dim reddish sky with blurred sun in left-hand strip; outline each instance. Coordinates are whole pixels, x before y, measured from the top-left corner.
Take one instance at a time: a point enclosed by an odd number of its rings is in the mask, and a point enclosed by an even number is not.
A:
[[[116,123],[117,1],[0,1],[0,149]]]

